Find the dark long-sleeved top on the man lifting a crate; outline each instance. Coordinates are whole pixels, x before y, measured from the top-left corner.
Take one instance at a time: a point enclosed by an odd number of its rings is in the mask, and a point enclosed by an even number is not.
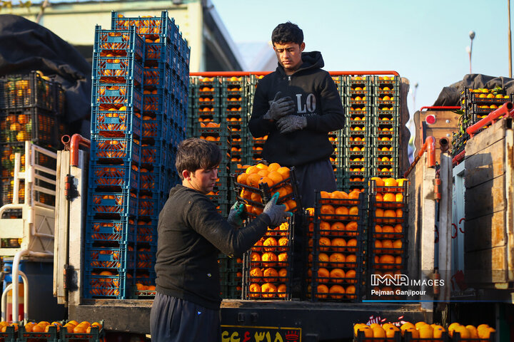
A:
[[[268,215],[261,214],[246,227],[235,229],[208,197],[176,185],[158,219],[156,290],[219,309],[219,252],[241,256],[263,236],[268,224]]]

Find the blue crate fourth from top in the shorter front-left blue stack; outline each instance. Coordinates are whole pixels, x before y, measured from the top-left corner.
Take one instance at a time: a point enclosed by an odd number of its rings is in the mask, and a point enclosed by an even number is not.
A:
[[[141,114],[127,110],[101,110],[94,107],[91,114],[91,133],[106,138],[124,135],[141,137]],[[130,137],[127,137],[130,138]]]

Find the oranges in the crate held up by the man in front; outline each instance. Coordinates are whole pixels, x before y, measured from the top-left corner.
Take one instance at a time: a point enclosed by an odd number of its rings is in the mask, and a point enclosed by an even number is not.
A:
[[[245,210],[249,214],[259,215],[263,211],[263,192],[259,185],[266,184],[271,194],[278,192],[277,203],[286,205],[286,211],[293,212],[297,208],[293,199],[291,186],[291,170],[276,162],[266,165],[262,162],[257,165],[243,165],[245,172],[237,176],[236,182],[242,188],[239,198],[245,202]]]

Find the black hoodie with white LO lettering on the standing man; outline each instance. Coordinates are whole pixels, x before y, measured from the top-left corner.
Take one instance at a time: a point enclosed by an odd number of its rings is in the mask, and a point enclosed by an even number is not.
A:
[[[264,76],[257,85],[253,110],[248,128],[255,138],[268,135],[263,158],[291,167],[333,154],[328,132],[344,127],[345,116],[341,95],[330,74],[322,70],[325,63],[319,51],[302,53],[302,65],[287,76],[281,65]],[[296,104],[296,113],[307,118],[303,130],[281,134],[274,121],[263,119],[270,108],[269,102],[281,91]]]

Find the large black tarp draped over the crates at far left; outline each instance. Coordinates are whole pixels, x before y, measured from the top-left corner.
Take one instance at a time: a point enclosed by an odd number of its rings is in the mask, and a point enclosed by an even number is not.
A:
[[[35,70],[61,83],[66,93],[64,120],[69,133],[89,136],[91,64],[48,28],[21,16],[1,14],[0,76]]]

